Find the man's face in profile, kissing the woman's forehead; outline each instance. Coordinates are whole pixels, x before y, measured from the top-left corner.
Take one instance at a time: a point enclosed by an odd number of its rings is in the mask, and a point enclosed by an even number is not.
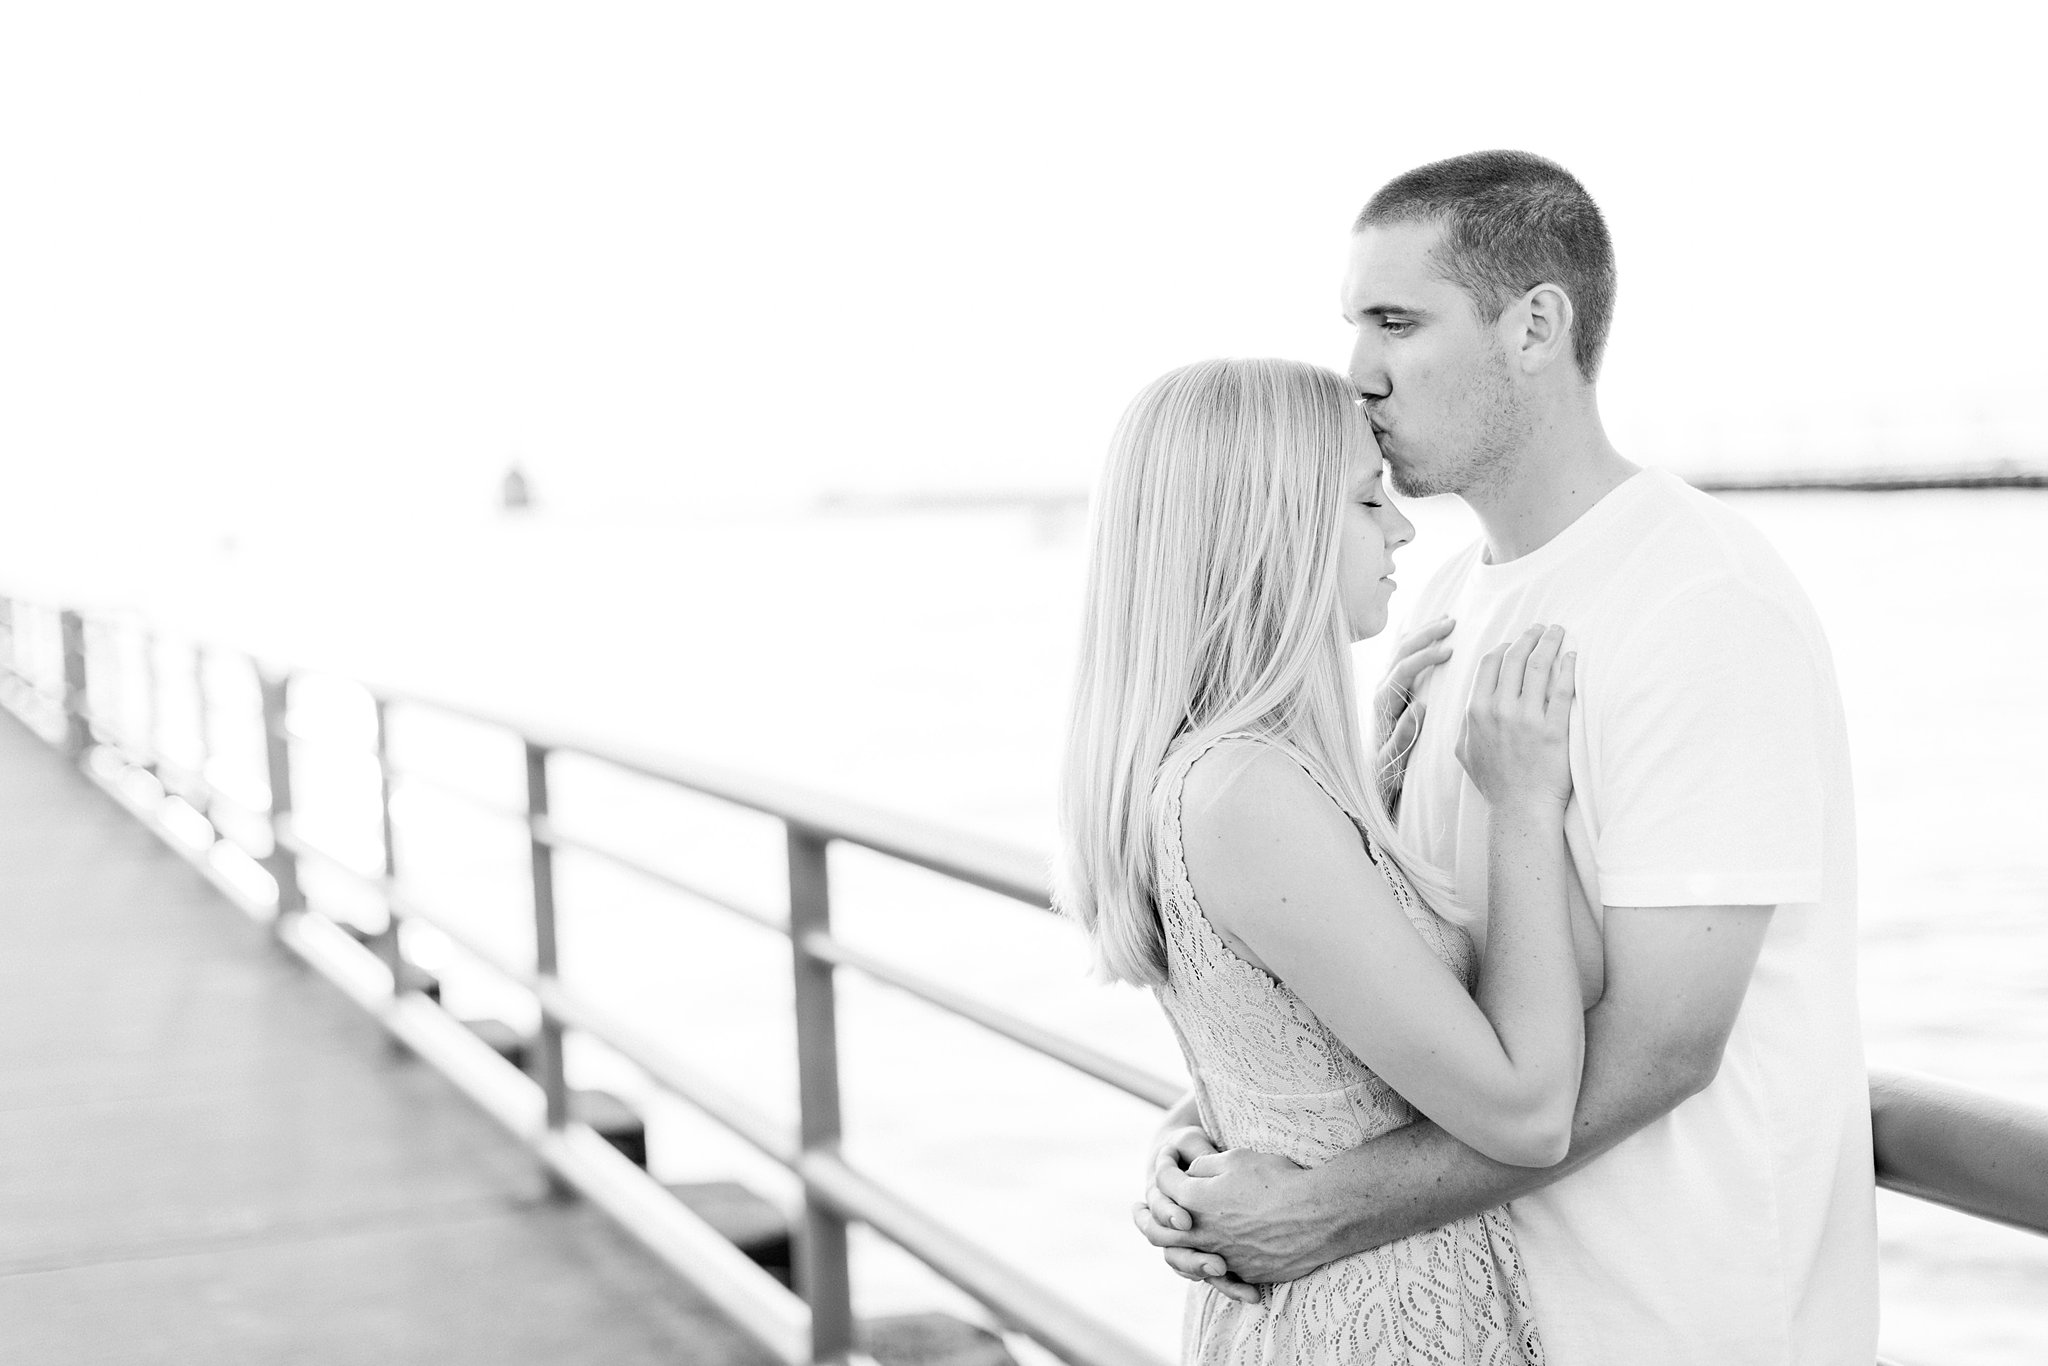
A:
[[[1440,223],[1366,227],[1343,274],[1343,319],[1358,328],[1352,383],[1409,498],[1493,483],[1526,432],[1499,326],[1432,262],[1440,233]]]

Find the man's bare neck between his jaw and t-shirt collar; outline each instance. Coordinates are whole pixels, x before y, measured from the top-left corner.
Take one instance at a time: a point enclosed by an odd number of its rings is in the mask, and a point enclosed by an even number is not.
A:
[[[1608,440],[1591,405],[1550,414],[1499,479],[1464,494],[1487,535],[1487,563],[1548,545],[1636,469]]]

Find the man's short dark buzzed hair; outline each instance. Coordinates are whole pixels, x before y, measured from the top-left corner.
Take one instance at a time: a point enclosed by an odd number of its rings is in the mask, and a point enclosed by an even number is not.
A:
[[[1614,244],[1599,205],[1579,180],[1530,152],[1466,152],[1395,176],[1352,231],[1386,223],[1442,221],[1436,264],[1499,319],[1509,299],[1536,285],[1571,295],[1571,352],[1579,373],[1599,373],[1614,322]]]

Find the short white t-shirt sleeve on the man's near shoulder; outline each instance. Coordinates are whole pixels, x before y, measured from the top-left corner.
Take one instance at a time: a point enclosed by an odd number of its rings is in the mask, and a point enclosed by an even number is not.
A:
[[[1829,682],[1815,647],[1741,584],[1690,590],[1630,633],[1589,735],[1602,901],[1821,899]]]

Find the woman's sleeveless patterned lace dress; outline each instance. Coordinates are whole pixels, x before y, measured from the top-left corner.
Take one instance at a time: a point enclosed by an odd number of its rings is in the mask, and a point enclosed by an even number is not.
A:
[[[1225,735],[1221,739],[1253,739]],[[1159,803],[1159,917],[1167,983],[1159,1004],[1194,1073],[1202,1126],[1223,1147],[1280,1153],[1307,1167],[1415,1118],[1284,985],[1239,958],[1196,905],[1182,852],[1188,758]],[[1341,805],[1341,803],[1339,803]],[[1366,836],[1415,932],[1470,987],[1466,936],[1417,903]],[[1505,1208],[1405,1237],[1264,1286],[1264,1305],[1194,1284],[1182,1325],[1186,1366],[1540,1366],[1542,1343]]]

